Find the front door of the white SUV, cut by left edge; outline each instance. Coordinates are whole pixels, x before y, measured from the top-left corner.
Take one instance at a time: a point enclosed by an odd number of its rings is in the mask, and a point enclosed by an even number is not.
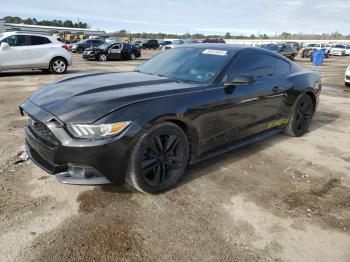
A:
[[[12,35],[1,42],[7,43],[9,47],[0,50],[0,70],[30,67],[26,35]]]

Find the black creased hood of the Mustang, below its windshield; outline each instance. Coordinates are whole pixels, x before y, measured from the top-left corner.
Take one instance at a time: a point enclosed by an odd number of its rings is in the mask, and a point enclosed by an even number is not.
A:
[[[139,72],[80,74],[42,88],[29,101],[66,124],[88,124],[127,105],[198,86]]]

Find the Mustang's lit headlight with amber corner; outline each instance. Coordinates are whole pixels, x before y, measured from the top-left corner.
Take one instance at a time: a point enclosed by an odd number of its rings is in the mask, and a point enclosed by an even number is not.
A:
[[[125,130],[131,121],[101,125],[69,125],[68,130],[78,138],[102,138],[113,136]]]

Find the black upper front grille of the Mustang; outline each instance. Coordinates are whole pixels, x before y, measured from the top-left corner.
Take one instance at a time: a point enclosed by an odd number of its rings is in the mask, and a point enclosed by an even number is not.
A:
[[[55,137],[55,135],[51,132],[51,130],[39,120],[29,118],[28,127],[32,131],[32,133],[38,138],[41,142],[46,144],[49,147],[57,147],[59,141]]]

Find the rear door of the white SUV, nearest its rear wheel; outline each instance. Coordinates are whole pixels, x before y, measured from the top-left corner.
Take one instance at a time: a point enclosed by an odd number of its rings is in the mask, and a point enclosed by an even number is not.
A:
[[[28,36],[29,43],[29,59],[31,67],[40,68],[48,67],[53,57],[54,48],[51,41],[44,36]]]

